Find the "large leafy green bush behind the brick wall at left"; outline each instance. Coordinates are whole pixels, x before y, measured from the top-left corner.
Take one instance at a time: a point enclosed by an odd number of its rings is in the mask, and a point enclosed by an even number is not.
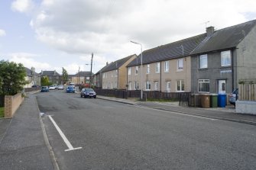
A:
[[[0,95],[16,95],[28,84],[26,69],[21,63],[0,61]]]

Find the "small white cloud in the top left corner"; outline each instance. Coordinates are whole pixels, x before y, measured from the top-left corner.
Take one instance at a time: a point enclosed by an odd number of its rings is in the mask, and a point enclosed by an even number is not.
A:
[[[34,2],[32,0],[16,0],[11,3],[12,11],[19,11],[28,13],[34,8]]]

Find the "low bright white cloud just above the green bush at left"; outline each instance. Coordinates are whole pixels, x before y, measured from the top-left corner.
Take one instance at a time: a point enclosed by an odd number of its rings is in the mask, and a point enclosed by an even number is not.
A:
[[[36,69],[36,72],[41,72],[41,70],[47,70],[51,69],[52,66],[50,64],[45,62],[38,62],[36,60],[37,56],[36,54],[32,53],[11,53],[8,56],[11,58],[9,59],[12,62],[15,63],[22,63],[25,67],[28,69],[31,69],[31,67],[34,67]]]

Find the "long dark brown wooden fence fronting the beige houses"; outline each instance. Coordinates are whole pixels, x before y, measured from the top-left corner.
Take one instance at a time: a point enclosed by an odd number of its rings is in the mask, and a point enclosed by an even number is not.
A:
[[[141,91],[126,91],[113,89],[95,89],[97,95],[104,95],[115,98],[140,98]],[[180,105],[187,106],[190,100],[190,92],[162,92],[162,91],[143,91],[147,95],[147,99],[166,99],[171,101],[179,101]]]

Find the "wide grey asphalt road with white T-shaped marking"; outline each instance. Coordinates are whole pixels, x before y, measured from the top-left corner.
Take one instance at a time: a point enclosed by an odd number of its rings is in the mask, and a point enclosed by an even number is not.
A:
[[[256,169],[252,125],[64,91],[39,93],[37,103],[60,169]],[[50,117],[74,149],[65,151]]]

